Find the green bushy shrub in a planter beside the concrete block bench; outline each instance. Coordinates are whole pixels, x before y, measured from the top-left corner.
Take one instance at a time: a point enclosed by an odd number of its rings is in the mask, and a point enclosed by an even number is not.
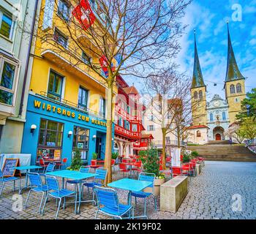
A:
[[[140,160],[143,162],[143,169],[145,173],[154,173],[156,179],[154,181],[154,195],[158,196],[160,193],[161,184],[165,183],[165,174],[159,170],[159,156],[157,148],[149,148],[146,151],[140,151]],[[151,192],[151,188],[144,189],[144,192]]]

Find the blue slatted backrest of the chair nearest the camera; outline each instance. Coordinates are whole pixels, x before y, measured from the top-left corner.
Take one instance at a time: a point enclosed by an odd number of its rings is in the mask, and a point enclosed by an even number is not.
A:
[[[100,205],[104,205],[108,208],[117,208],[119,213],[119,203],[116,190],[94,186],[94,192],[97,196],[98,208]]]

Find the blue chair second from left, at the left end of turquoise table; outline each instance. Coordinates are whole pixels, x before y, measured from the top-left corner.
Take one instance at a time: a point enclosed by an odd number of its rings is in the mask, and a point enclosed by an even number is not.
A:
[[[26,197],[25,209],[26,205],[29,201],[29,195],[31,191],[42,193],[42,199],[39,205],[39,214],[41,214],[42,201],[44,200],[45,195],[48,193],[48,186],[46,184],[42,184],[42,179],[39,173],[28,173],[29,181],[30,181],[30,189],[28,197]]]

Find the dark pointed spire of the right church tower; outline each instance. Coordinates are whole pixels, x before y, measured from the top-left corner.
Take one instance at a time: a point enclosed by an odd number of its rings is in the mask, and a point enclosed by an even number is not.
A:
[[[238,65],[236,64],[236,58],[233,51],[231,39],[230,39],[230,30],[227,22],[227,72],[225,82],[231,80],[241,80],[244,79],[244,76],[241,75],[241,72],[238,69]]]

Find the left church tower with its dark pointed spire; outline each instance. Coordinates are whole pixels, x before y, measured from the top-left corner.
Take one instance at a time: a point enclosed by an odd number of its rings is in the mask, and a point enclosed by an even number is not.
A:
[[[197,42],[195,38],[195,58],[194,58],[194,71],[191,86],[192,97],[192,124],[206,125],[206,85],[203,81],[203,75],[200,67],[200,62],[197,53]]]

